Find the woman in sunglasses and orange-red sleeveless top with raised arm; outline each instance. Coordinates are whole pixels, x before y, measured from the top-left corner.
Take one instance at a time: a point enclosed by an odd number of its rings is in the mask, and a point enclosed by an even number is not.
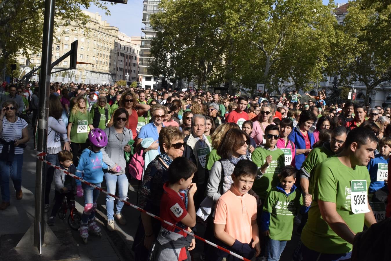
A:
[[[138,124],[138,117],[148,112],[151,106],[138,103],[137,96],[134,92],[125,92],[124,94],[122,94],[122,97],[118,104],[120,108],[125,108],[127,110],[127,113],[129,114],[126,128],[132,131],[132,139],[135,139],[137,136],[136,128]],[[110,127],[111,125],[113,125],[113,118],[111,118],[109,123],[107,124],[108,127]]]

